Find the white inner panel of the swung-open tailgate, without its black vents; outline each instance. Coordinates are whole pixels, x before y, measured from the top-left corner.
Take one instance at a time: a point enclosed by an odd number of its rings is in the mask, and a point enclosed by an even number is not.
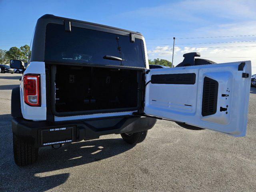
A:
[[[195,73],[195,84],[152,84],[146,87],[145,113],[169,120],[231,134],[246,134],[248,102],[251,80],[251,62],[246,61],[243,71],[238,71],[241,62],[163,68],[150,70],[146,82],[156,74]],[[248,73],[249,78],[242,78]],[[217,111],[202,116],[202,92],[204,77],[218,81]],[[223,97],[222,94],[228,94]],[[220,107],[227,107],[220,111]]]

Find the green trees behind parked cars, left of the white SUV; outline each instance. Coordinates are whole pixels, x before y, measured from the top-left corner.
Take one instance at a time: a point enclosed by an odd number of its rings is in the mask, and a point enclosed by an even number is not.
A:
[[[0,64],[9,64],[11,59],[27,62],[29,54],[30,51],[28,45],[21,46],[20,48],[11,47],[8,51],[0,49]]]

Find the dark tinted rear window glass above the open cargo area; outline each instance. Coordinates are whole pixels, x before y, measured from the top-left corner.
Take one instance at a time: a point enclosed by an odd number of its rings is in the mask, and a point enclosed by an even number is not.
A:
[[[106,55],[126,61],[104,59]],[[66,32],[64,25],[50,23],[46,26],[45,60],[144,68],[144,43],[138,38],[132,43],[129,36],[73,26]]]

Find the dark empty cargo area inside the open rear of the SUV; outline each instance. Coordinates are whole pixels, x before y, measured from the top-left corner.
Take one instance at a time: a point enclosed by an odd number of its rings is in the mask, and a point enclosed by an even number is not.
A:
[[[142,70],[55,66],[54,111],[90,114],[136,110]]]

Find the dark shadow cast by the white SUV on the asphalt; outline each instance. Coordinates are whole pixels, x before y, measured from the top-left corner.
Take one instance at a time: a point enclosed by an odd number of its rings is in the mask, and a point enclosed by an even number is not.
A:
[[[121,138],[65,144],[58,150],[44,147],[39,149],[38,162],[18,167],[12,154],[11,118],[10,114],[0,115],[0,191],[50,190],[65,183],[70,176],[68,170],[63,169],[100,161],[133,148]],[[52,171],[57,171],[58,174],[51,173]],[[84,174],[89,173],[84,171]]]

